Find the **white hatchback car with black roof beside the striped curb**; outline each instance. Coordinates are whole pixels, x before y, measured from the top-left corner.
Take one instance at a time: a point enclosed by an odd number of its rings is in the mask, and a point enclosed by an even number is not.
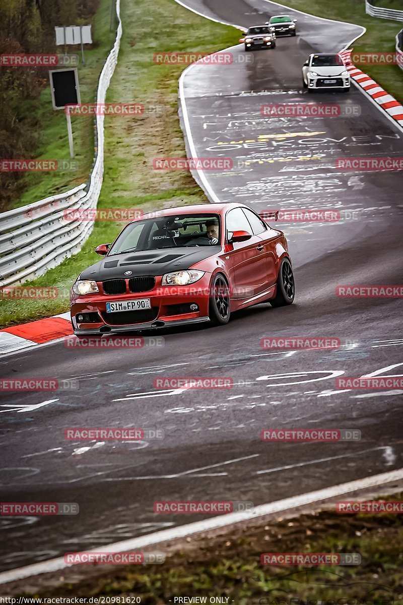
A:
[[[302,68],[303,87],[308,90],[350,90],[350,75],[340,54],[310,54]]]

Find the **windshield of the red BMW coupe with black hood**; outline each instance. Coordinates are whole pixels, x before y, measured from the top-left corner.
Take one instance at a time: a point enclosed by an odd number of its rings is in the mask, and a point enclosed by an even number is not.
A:
[[[108,256],[140,250],[161,250],[178,246],[219,245],[220,218],[216,214],[173,214],[146,218],[127,225]]]

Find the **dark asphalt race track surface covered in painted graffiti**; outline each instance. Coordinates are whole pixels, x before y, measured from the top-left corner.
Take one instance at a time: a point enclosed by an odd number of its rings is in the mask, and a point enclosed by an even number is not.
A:
[[[189,7],[242,27],[285,11],[265,0],[189,0]],[[2,570],[202,518],[154,514],[155,500],[258,505],[403,466],[403,390],[335,388],[337,376],[402,374],[401,300],[335,293],[343,284],[401,284],[401,172],[343,172],[335,159],[402,155],[402,131],[355,87],[317,96],[303,90],[308,54],[341,50],[361,28],[295,16],[297,36],[278,38],[275,50],[245,53],[239,45],[230,49],[231,65],[189,68],[181,103],[191,126],[187,145],[199,157],[233,159],[231,171],[204,173],[211,199],[258,212],[331,209],[340,220],[278,223],[297,280],[291,307],[256,306],[218,329],[144,333],[149,346],[137,350],[58,342],[2,360],[4,378],[79,381],[78,390],[2,397],[2,499],[80,506],[74,516],[1,518]],[[263,104],[285,100],[357,105],[361,115],[262,116]],[[279,352],[263,349],[263,336],[330,336],[345,344]],[[153,387],[161,376],[228,377],[235,384],[161,391]],[[64,437],[69,427],[123,426],[160,429],[164,439]],[[362,438],[266,443],[263,428],[358,429]]]

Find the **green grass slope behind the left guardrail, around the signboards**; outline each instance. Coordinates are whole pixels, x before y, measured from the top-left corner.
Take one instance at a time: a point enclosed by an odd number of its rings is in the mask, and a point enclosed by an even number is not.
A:
[[[84,50],[85,67],[82,65],[80,46],[67,48],[68,54],[78,54],[80,57],[78,70],[82,103],[94,102],[103,64],[114,44],[115,31],[109,31],[110,7],[111,0],[100,1],[92,25],[93,48]],[[57,53],[62,52],[63,47],[57,47]],[[44,88],[38,99],[25,103],[24,112],[36,116],[37,128],[41,132],[35,157],[69,160],[66,116],[63,110],[53,110],[49,85]],[[77,169],[25,173],[19,183],[24,193],[14,201],[13,208],[68,191],[88,180],[94,157],[94,120],[92,117],[73,117],[72,125]]]

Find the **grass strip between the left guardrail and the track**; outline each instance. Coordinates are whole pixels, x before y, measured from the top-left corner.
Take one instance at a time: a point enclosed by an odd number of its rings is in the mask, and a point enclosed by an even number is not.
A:
[[[109,19],[109,14],[106,17]],[[123,2],[121,18],[123,37],[107,100],[143,103],[146,109],[149,105],[158,106],[163,113],[160,116],[146,111],[138,117],[105,118],[105,175],[98,208],[150,210],[203,203],[207,201],[204,192],[190,173],[157,172],[152,168],[155,157],[185,157],[178,118],[178,78],[185,66],[157,65],[153,54],[177,50],[210,53],[236,44],[239,30],[208,21],[173,0],[153,0],[152,11],[146,0]],[[64,116],[60,118],[65,120]],[[86,121],[77,117],[74,122],[79,120]],[[64,189],[73,184],[69,180]],[[36,192],[34,197],[41,196]],[[33,200],[25,199],[24,203],[28,201]],[[122,227],[123,223],[97,221],[81,252],[26,284],[57,287],[59,297],[50,301],[0,302],[1,327],[68,310],[71,284],[80,271],[100,260],[95,246],[114,240]]]

